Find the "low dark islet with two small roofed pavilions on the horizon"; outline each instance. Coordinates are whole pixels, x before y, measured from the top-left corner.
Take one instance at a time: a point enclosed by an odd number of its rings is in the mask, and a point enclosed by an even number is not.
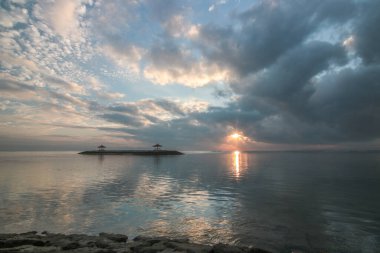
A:
[[[183,155],[182,152],[177,150],[164,150],[161,149],[162,145],[155,144],[152,146],[153,150],[139,150],[139,149],[126,149],[126,150],[106,150],[103,144],[98,146],[98,150],[82,151],[80,155]]]

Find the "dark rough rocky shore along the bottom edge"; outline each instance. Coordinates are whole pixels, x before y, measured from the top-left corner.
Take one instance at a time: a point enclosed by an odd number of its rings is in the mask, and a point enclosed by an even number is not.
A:
[[[98,236],[85,234],[55,234],[36,231],[21,234],[0,234],[1,252],[78,252],[78,253],[269,253],[268,251],[225,244],[201,245],[188,239],[138,236],[127,242],[122,234],[100,233]]]

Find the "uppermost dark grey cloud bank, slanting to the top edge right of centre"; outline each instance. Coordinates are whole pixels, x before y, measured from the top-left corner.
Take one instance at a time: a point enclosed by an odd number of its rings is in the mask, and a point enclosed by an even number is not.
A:
[[[206,25],[202,50],[209,59],[246,75],[273,64],[289,49],[328,22],[343,22],[353,13],[351,1],[262,1],[240,14],[240,29]]]

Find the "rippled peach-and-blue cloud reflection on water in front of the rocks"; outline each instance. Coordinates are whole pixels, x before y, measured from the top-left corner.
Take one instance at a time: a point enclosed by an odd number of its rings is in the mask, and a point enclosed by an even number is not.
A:
[[[145,216],[139,233],[186,236],[197,242],[232,241],[231,214],[222,207],[231,206],[228,203],[231,196],[221,191],[219,195],[220,198],[215,198],[207,190],[185,186],[174,178],[144,173],[139,177],[133,198],[136,204],[153,210]]]

